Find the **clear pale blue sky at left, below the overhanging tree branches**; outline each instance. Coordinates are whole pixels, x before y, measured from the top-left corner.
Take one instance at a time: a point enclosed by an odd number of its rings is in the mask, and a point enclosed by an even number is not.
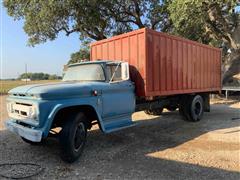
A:
[[[78,35],[65,36],[60,34],[54,41],[27,46],[28,37],[23,30],[23,21],[14,21],[8,16],[0,3],[1,18],[1,77],[0,79],[16,78],[25,72],[44,72],[62,74],[63,65],[70,59],[70,54],[80,48]]]

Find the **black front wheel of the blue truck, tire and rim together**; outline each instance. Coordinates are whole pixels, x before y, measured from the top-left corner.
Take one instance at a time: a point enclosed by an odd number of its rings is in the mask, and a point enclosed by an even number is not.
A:
[[[61,157],[64,161],[72,163],[81,156],[87,138],[86,122],[82,112],[65,120],[60,132]]]

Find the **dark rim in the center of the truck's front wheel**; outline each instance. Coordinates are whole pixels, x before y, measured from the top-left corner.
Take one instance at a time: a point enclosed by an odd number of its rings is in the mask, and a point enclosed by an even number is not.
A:
[[[86,130],[83,122],[80,122],[77,125],[75,135],[74,135],[74,149],[75,151],[79,151],[81,147],[84,145],[86,136]]]

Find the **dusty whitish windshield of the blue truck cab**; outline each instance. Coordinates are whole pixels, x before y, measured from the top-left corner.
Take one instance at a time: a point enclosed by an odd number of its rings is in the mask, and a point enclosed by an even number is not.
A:
[[[105,81],[105,76],[100,64],[82,64],[69,67],[63,81]]]

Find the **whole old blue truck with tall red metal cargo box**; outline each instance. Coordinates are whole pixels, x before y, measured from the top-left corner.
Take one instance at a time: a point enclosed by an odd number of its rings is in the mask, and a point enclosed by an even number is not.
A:
[[[69,65],[62,82],[10,90],[6,127],[30,144],[57,135],[73,162],[94,124],[111,133],[164,108],[197,122],[220,90],[220,49],[144,28],[92,43],[91,60]]]

